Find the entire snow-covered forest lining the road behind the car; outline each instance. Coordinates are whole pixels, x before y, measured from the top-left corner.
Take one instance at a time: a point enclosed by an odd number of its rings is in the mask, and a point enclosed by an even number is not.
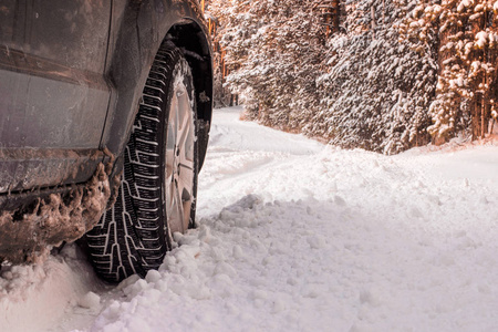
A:
[[[483,139],[498,117],[498,1],[210,0],[218,106],[344,148]]]

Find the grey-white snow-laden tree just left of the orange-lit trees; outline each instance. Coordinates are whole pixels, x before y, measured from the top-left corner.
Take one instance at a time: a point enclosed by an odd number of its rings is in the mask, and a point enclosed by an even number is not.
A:
[[[328,43],[319,80],[323,110],[308,127],[345,147],[386,154],[429,142],[427,110],[436,63],[398,41],[403,10],[393,1],[349,1],[347,33]]]

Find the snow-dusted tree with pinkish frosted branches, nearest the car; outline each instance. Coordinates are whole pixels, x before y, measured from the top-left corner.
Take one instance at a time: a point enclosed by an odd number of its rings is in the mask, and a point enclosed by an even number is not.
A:
[[[248,118],[298,131],[317,112],[324,30],[314,2],[212,1],[209,10],[222,27],[227,84],[243,100]]]

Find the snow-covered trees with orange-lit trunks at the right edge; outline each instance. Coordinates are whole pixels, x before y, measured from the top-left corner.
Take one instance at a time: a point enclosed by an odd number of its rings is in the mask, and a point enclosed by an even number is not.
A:
[[[419,51],[438,48],[437,96],[430,105],[436,141],[469,129],[484,137],[497,110],[498,1],[424,0],[400,25]]]

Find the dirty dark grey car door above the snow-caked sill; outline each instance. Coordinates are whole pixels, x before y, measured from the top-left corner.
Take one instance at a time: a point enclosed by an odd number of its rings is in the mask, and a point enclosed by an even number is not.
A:
[[[94,172],[111,11],[111,0],[0,0],[0,194]]]

